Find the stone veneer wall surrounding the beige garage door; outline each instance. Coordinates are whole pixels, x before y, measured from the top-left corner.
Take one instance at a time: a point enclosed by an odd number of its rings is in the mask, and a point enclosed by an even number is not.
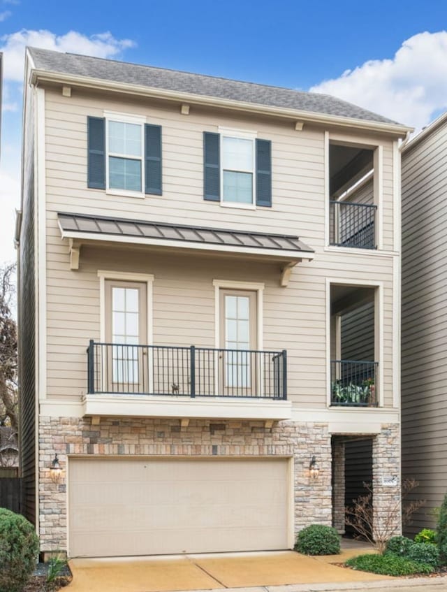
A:
[[[332,523],[331,449],[325,424],[262,421],[41,417],[39,424],[39,535],[41,550],[66,549],[66,466],[69,455],[114,456],[293,456],[295,530]],[[63,473],[54,483],[50,465],[57,453]],[[309,476],[317,457],[320,474]],[[69,461],[68,461],[69,462]]]

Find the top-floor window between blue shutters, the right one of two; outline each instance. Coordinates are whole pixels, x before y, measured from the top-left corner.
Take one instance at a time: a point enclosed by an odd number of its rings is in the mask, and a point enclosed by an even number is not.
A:
[[[221,134],[221,201],[223,204],[254,205],[254,136]]]

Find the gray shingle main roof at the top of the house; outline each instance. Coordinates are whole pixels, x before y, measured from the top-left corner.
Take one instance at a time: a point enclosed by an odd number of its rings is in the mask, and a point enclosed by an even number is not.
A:
[[[140,66],[84,55],[29,48],[37,70],[123,82],[142,87],[218,97],[309,113],[349,117],[357,120],[395,124],[392,120],[352,105],[328,94],[298,92],[293,89],[258,85],[153,66]]]

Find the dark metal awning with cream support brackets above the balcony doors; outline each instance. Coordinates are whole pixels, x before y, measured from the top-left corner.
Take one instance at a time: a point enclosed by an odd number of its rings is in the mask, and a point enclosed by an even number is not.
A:
[[[186,224],[165,224],[148,220],[132,220],[103,216],[59,213],[62,238],[71,241],[71,268],[77,269],[82,243],[102,240],[112,243],[152,245],[159,248],[189,249],[198,252],[241,254],[247,257],[279,261],[286,285],[287,270],[303,259],[314,258],[314,250],[298,236]]]

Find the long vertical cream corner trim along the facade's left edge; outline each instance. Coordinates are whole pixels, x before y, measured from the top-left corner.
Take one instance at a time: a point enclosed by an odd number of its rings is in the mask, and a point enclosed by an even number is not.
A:
[[[38,398],[47,398],[47,232],[46,232],[46,171],[45,171],[45,90],[36,89],[36,208],[37,265],[36,300],[38,327],[36,368],[38,368]]]

